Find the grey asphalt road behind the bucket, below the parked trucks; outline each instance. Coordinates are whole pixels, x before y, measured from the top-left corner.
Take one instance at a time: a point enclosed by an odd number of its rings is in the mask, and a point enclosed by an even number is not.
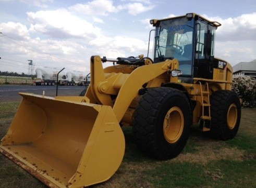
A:
[[[79,96],[85,86],[58,86],[58,96]],[[56,96],[56,86],[0,85],[0,102],[20,101],[19,92]]]

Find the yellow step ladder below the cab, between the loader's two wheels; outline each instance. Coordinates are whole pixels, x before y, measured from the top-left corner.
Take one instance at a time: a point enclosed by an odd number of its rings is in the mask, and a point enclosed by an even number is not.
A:
[[[200,91],[201,91],[201,103],[202,103],[202,116],[200,119],[200,129],[202,131],[209,131],[210,127],[205,127],[205,122],[208,121],[210,122],[211,120],[211,104],[210,104],[210,92],[209,92],[209,86],[208,83],[206,82],[206,88],[202,88],[202,83],[199,82],[200,84]],[[205,109],[208,109],[208,115],[205,115]],[[210,125],[210,124],[209,124]]]

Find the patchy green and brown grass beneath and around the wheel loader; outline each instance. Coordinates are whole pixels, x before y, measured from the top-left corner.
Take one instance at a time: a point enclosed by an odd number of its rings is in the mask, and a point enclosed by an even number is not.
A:
[[[256,187],[255,117],[256,108],[243,108],[237,136],[225,142],[192,126],[184,151],[167,161],[143,155],[133,142],[131,127],[123,127],[124,160],[111,179],[93,187]],[[11,117],[0,119],[1,137],[10,122]],[[45,187],[3,155],[0,163],[0,187]]]

